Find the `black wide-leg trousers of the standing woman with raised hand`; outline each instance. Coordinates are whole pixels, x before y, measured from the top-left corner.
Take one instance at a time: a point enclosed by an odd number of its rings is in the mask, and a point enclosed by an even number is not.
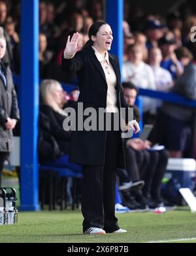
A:
[[[119,229],[115,217],[116,166],[120,131],[106,131],[105,165],[84,165],[82,184],[83,232],[90,226],[106,232]]]

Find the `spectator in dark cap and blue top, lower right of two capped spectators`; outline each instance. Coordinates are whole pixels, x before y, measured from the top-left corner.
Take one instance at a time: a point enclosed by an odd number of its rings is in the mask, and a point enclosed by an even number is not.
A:
[[[176,49],[176,39],[174,34],[169,32],[161,37],[161,39],[159,39],[159,47],[163,54],[161,67],[168,70],[172,75],[172,79],[175,80],[183,73],[183,66],[174,53]]]

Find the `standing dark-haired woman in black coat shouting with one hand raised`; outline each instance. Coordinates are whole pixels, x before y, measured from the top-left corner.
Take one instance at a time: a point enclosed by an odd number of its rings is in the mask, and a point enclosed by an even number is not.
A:
[[[105,22],[95,22],[90,27],[90,40],[78,51],[79,33],[68,37],[62,55],[62,68],[66,72],[76,72],[80,87],[77,117],[91,107],[98,115],[100,108],[114,120],[120,108],[128,106],[123,96],[120,65],[118,58],[108,54],[112,44],[112,30]],[[107,116],[105,114],[105,117]],[[84,117],[85,119],[85,117]],[[86,121],[86,119],[85,119]],[[85,125],[84,121],[84,125]],[[125,123],[129,119],[126,115]],[[139,131],[137,121],[130,120],[129,126]],[[116,167],[122,167],[122,147],[120,129],[76,129],[72,132],[69,160],[83,165],[82,214],[84,234],[105,234],[106,232],[126,232],[119,228],[115,217]]]

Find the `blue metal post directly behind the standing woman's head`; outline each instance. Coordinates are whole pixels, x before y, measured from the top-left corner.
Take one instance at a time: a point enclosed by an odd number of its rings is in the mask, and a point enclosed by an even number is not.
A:
[[[114,35],[111,53],[123,61],[123,0],[106,0],[106,22],[110,24]]]

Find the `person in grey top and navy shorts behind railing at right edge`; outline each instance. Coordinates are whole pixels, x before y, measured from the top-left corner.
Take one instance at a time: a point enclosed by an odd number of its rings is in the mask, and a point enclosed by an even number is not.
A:
[[[196,100],[196,66],[194,61],[184,68],[171,89],[190,100]],[[169,150],[171,158],[191,157],[191,127],[193,112],[191,108],[165,102],[160,124],[161,143]],[[162,126],[162,129],[161,129]]]

